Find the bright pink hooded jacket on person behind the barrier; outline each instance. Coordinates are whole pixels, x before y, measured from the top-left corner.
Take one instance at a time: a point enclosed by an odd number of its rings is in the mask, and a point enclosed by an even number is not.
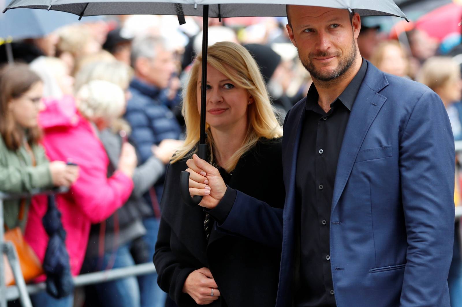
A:
[[[50,161],[72,161],[79,165],[79,178],[69,192],[56,195],[62,224],[67,232],[66,247],[71,271],[78,275],[82,266],[92,223],[108,218],[128,200],[133,181],[121,171],[107,177],[109,158],[93,126],[76,110],[72,97],[45,102],[39,115],[44,130],[43,147]],[[42,225],[47,198],[32,200],[24,233],[26,241],[43,261],[48,235]],[[40,278],[39,280],[43,280]]]

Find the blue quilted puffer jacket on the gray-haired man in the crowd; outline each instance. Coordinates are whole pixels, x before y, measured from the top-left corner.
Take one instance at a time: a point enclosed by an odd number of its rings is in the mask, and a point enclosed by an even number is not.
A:
[[[178,140],[182,130],[157,87],[135,78],[130,83],[130,92],[132,98],[124,117],[132,127],[131,141],[140,154],[140,163],[144,163],[152,156],[152,145],[164,139]]]

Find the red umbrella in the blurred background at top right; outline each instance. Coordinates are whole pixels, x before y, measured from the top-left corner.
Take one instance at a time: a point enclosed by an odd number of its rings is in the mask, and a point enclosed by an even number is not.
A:
[[[461,33],[462,6],[450,3],[425,14],[415,22],[415,27],[442,41],[447,35]]]

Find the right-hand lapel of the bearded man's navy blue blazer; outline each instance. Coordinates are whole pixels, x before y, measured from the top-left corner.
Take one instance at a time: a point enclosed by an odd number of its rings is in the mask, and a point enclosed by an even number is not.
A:
[[[346,125],[345,135],[343,136],[337,163],[337,173],[335,174],[331,213],[334,212],[343,189],[345,189],[346,182],[350,177],[354,161],[366,133],[376,118],[377,113],[382,108],[383,103],[387,100],[385,96],[377,92],[387,85],[388,81],[383,72],[379,71],[371,63],[368,63],[365,78],[359,88],[348,124]]]

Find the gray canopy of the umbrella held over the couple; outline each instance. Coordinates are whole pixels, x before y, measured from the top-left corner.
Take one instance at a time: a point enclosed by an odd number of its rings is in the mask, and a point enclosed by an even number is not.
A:
[[[209,17],[286,16],[286,4],[350,9],[361,16],[389,15],[406,18],[392,0],[12,0],[6,9],[37,8],[94,15],[188,15]]]

